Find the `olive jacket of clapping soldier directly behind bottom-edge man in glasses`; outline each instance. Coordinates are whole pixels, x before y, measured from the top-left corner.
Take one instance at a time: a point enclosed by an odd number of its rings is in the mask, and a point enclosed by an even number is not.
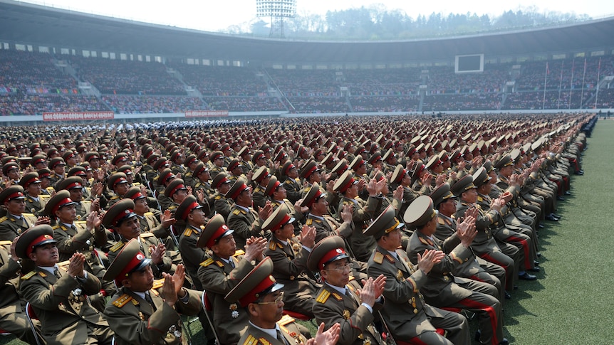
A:
[[[213,324],[222,345],[236,344],[247,329],[248,321],[246,310],[239,304],[227,302],[224,296],[254,268],[251,262],[244,260],[242,256],[232,257],[230,260],[234,267],[213,254],[198,267],[198,280],[212,304]]]

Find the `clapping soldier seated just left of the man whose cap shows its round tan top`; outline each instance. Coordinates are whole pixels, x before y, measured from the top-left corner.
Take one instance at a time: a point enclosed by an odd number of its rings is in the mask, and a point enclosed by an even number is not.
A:
[[[431,307],[420,294],[433,265],[442,260],[444,253],[427,250],[415,266],[407,258],[401,245],[402,223],[395,218],[395,211],[387,208],[365,230],[377,240],[377,247],[369,259],[369,276],[386,277],[382,309],[383,322],[392,338],[424,344],[471,344],[467,319],[461,314]],[[436,329],[447,331],[446,337]]]

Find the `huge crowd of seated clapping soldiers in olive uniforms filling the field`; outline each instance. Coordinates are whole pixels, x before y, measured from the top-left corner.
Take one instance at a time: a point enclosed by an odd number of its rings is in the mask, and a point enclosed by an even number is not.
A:
[[[6,128],[0,328],[180,344],[185,314],[210,344],[508,344],[594,120]]]

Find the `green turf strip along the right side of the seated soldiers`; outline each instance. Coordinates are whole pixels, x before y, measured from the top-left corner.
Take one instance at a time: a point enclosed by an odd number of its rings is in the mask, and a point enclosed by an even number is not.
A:
[[[563,219],[546,221],[539,232],[539,280],[520,281],[506,301],[505,336],[513,344],[614,344],[613,134],[614,120],[598,122],[583,155],[585,174],[572,177],[572,195],[558,203]],[[471,324],[477,328],[477,320]],[[199,322],[191,329],[197,332],[192,344],[206,344]],[[0,344],[23,343],[4,336]]]

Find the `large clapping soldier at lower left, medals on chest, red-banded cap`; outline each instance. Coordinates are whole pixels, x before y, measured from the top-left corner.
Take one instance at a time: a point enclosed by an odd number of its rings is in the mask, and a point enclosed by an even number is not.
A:
[[[81,253],[73,254],[68,269],[59,267],[57,242],[50,225],[36,225],[15,246],[17,256],[35,266],[21,278],[19,289],[41,320],[47,344],[111,344],[113,331],[88,299],[100,292],[100,281],[83,269]]]

